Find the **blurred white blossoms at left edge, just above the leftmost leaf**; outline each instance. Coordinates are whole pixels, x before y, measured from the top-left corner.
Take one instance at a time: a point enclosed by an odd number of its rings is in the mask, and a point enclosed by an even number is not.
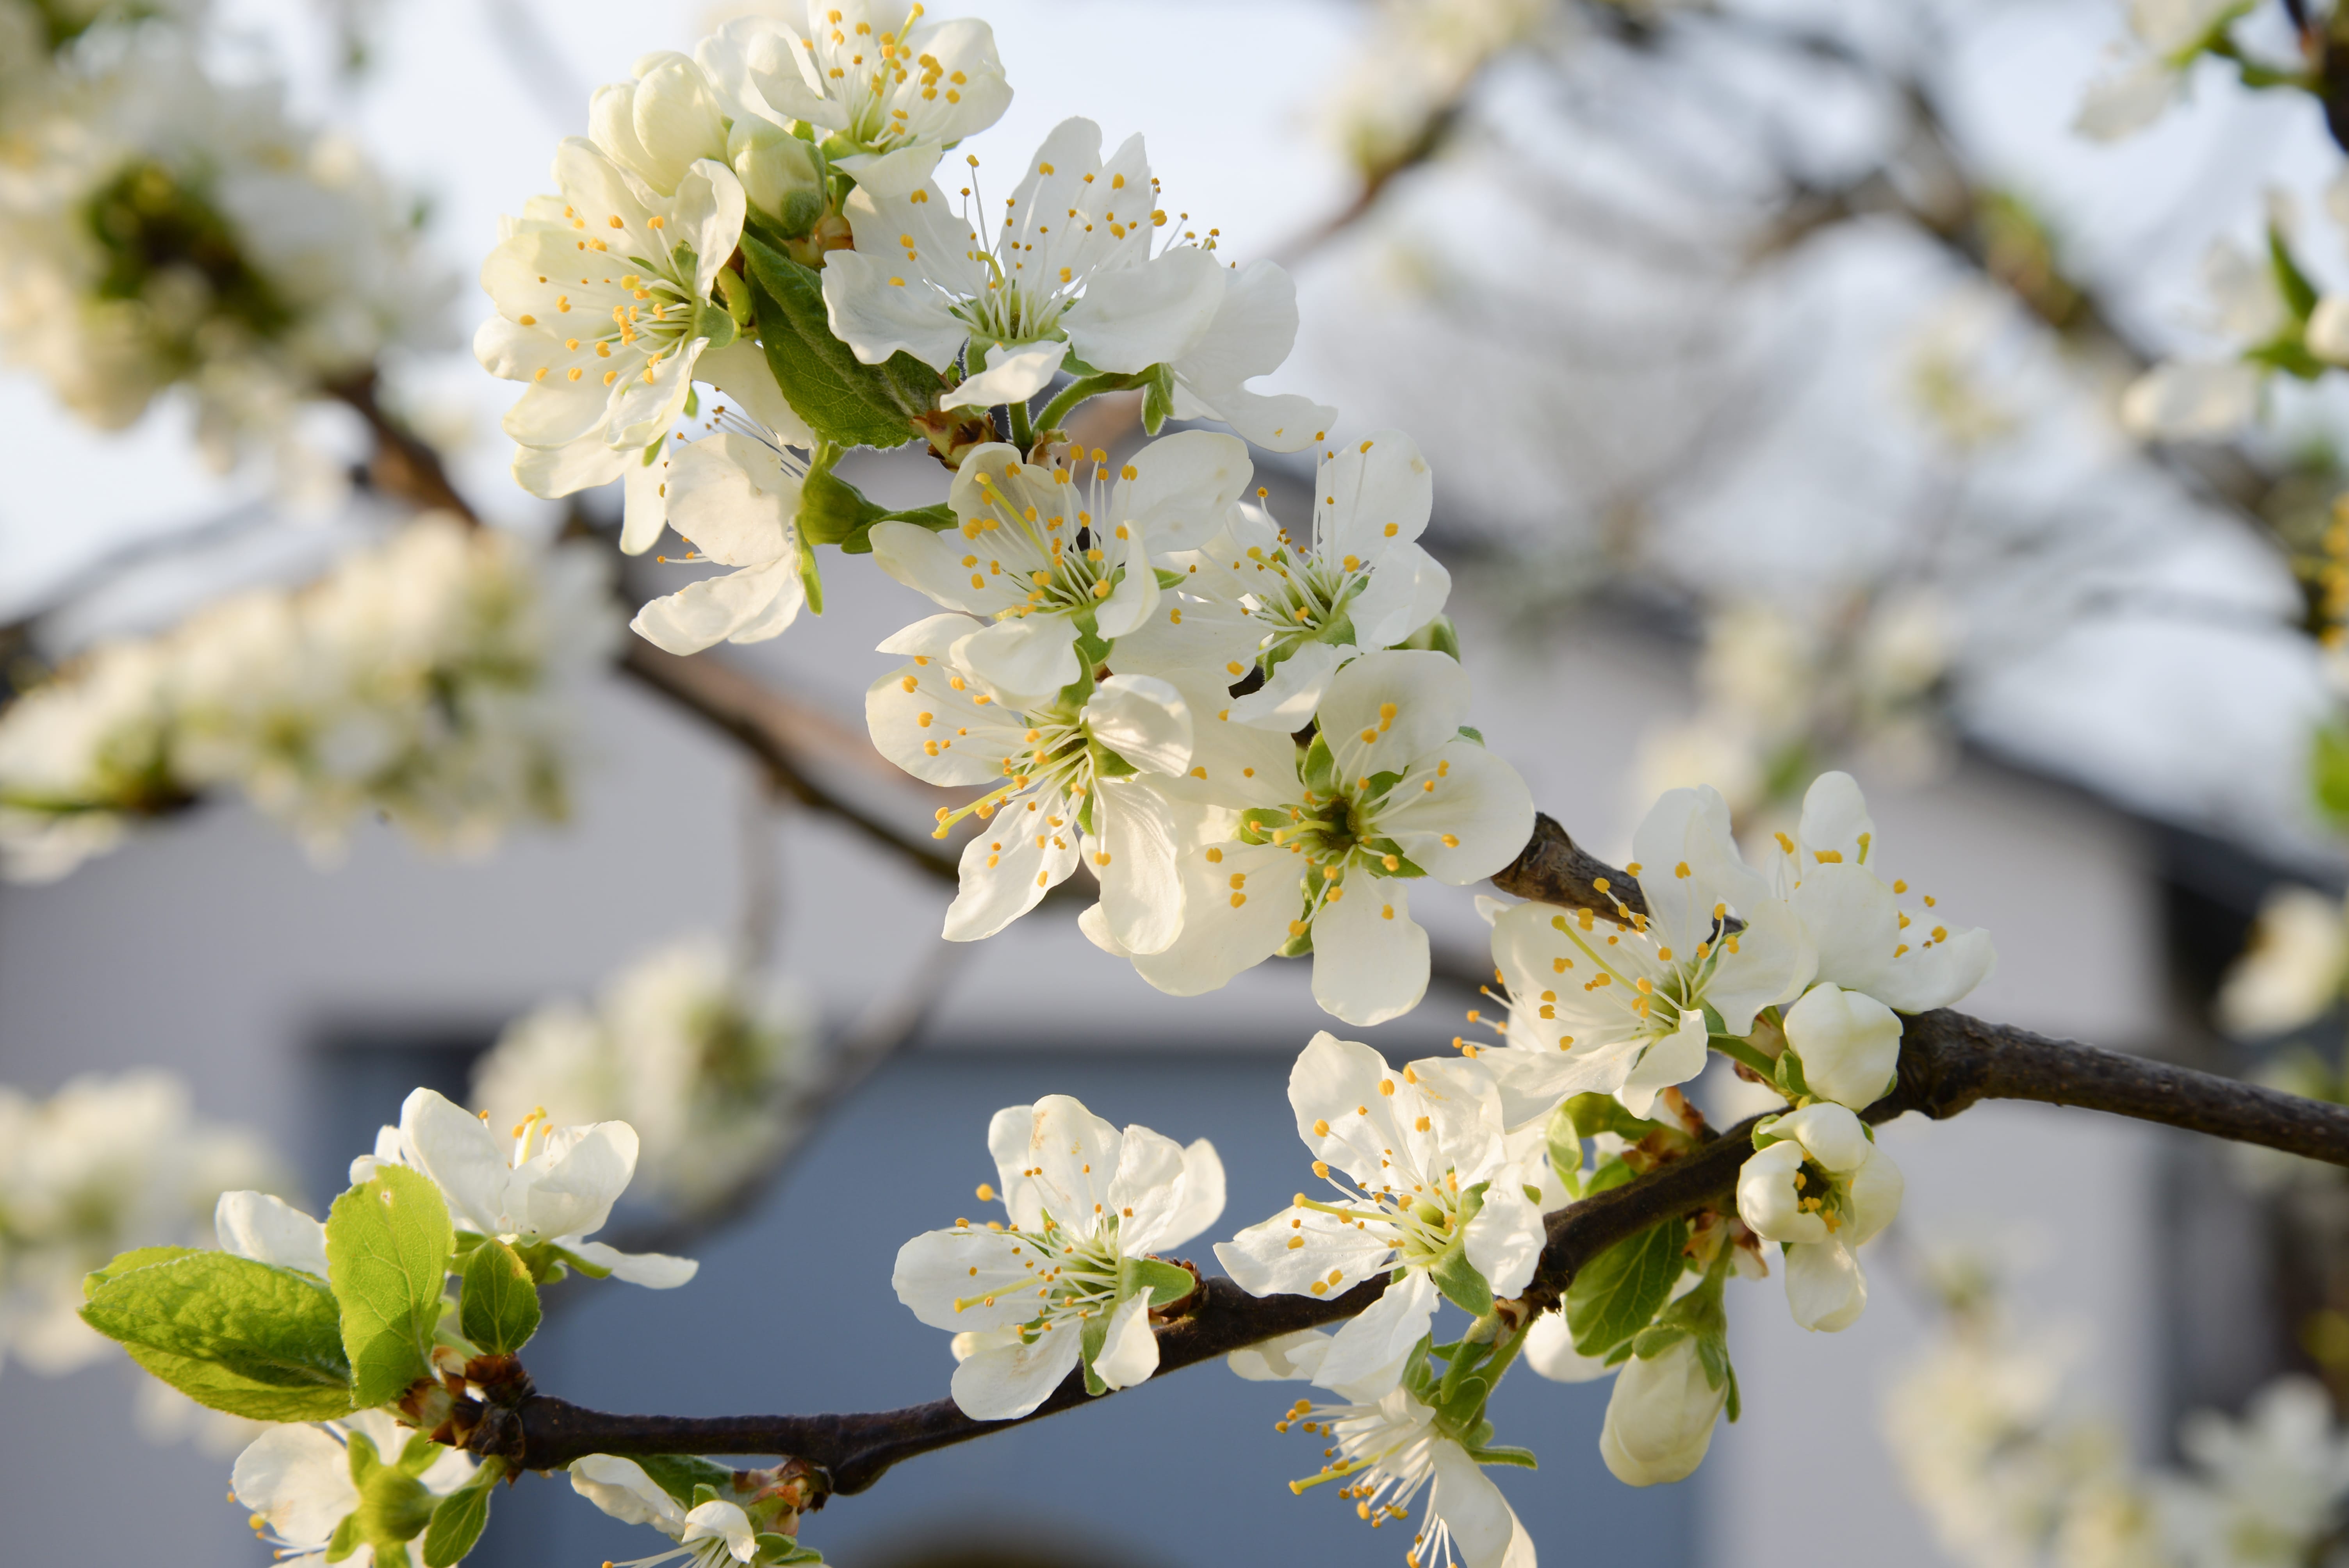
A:
[[[56,1376],[99,1359],[82,1275],[132,1246],[209,1244],[221,1192],[282,1183],[258,1138],[195,1117],[169,1073],[75,1077],[47,1101],[0,1084],[0,1361]]]

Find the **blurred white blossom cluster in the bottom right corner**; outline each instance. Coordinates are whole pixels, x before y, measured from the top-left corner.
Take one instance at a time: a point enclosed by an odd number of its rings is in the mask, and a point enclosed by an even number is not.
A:
[[[1884,1401],[1910,1495],[1968,1568],[2250,1568],[2323,1563],[2349,1516],[2349,1432],[2300,1376],[2241,1420],[2178,1430],[2185,1469],[2138,1469],[2123,1434],[2065,1401],[2067,1357],[2025,1343],[1994,1291],[1950,1307],[1947,1333]]]

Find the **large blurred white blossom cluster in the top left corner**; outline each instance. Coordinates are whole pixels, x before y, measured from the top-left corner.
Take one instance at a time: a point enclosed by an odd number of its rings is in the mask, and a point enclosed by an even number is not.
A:
[[[169,5],[0,9],[0,340],[120,430],[186,387],[221,465],[446,340],[423,209],[345,136],[228,85]]]

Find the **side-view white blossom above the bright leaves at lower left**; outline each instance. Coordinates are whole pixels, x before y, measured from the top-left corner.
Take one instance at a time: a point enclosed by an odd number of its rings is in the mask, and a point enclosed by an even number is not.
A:
[[[381,1164],[430,1176],[458,1230],[517,1246],[545,1244],[655,1291],[686,1284],[700,1268],[693,1258],[625,1253],[585,1239],[604,1228],[637,1174],[637,1129],[627,1122],[554,1127],[533,1113],[500,1143],[486,1122],[432,1089],[416,1089],[399,1106],[399,1127],[376,1136],[373,1155],[352,1160],[352,1185],[373,1178]]]

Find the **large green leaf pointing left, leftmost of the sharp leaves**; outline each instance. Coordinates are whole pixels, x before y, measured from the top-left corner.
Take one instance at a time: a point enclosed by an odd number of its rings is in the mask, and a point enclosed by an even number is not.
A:
[[[141,1249],[157,1253],[162,1249]],[[108,1263],[82,1322],[197,1404],[237,1415],[296,1408],[350,1413],[350,1364],[334,1296],[310,1275],[226,1251],[183,1251],[146,1268]],[[122,1270],[122,1272],[113,1272]]]

